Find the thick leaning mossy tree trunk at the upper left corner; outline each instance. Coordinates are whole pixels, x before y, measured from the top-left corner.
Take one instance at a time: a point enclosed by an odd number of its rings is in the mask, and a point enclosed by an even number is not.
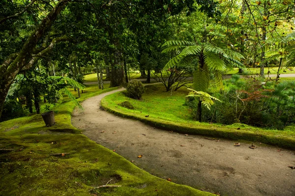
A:
[[[29,69],[32,66],[32,64],[29,64],[29,61],[32,58],[33,50],[43,35],[51,28],[67,3],[68,1],[60,0],[54,9],[42,20],[40,25],[30,34],[21,51],[18,54],[11,54],[0,66],[0,118],[5,98],[14,78],[24,67]]]

